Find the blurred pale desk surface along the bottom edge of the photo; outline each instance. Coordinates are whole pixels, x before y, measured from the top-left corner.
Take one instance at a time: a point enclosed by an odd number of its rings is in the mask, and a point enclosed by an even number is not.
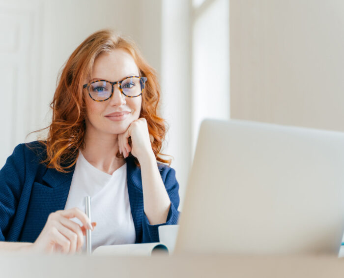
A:
[[[155,255],[63,256],[0,253],[0,276],[61,277],[331,277],[343,278],[335,256]]]

